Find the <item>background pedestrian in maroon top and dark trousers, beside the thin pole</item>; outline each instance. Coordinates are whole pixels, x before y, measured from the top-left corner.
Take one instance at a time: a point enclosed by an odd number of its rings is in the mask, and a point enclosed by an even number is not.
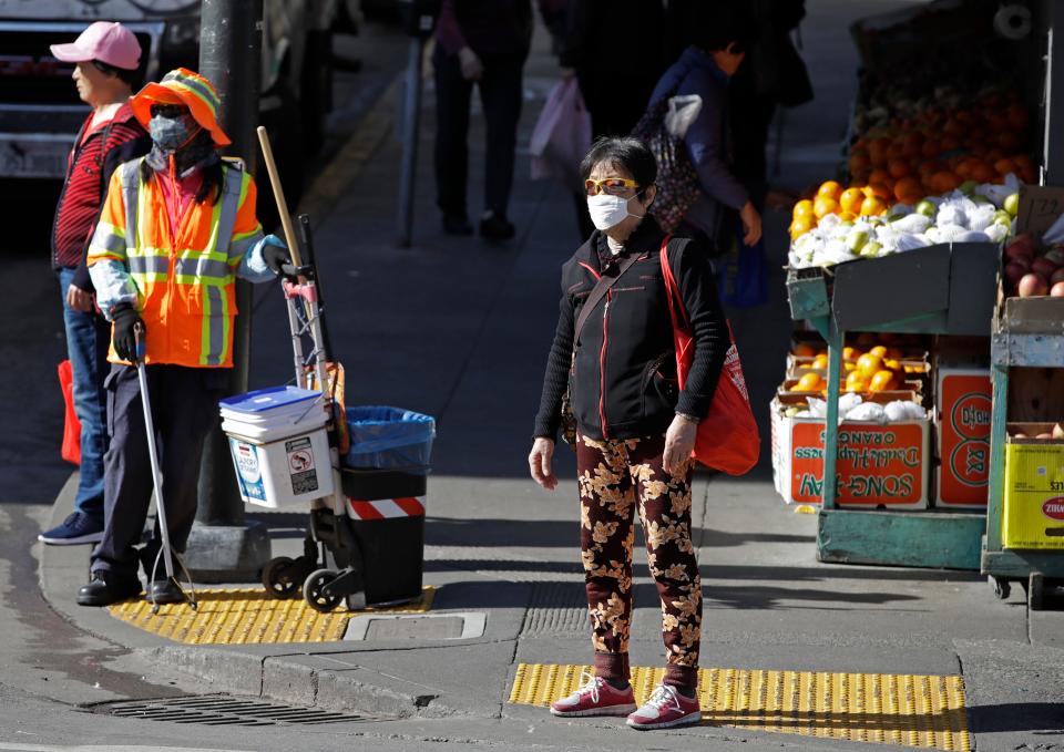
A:
[[[531,0],[443,0],[436,30],[436,184],[443,230],[472,235],[466,204],[473,85],[488,125],[480,235],[508,240],[522,72],[532,43]]]

